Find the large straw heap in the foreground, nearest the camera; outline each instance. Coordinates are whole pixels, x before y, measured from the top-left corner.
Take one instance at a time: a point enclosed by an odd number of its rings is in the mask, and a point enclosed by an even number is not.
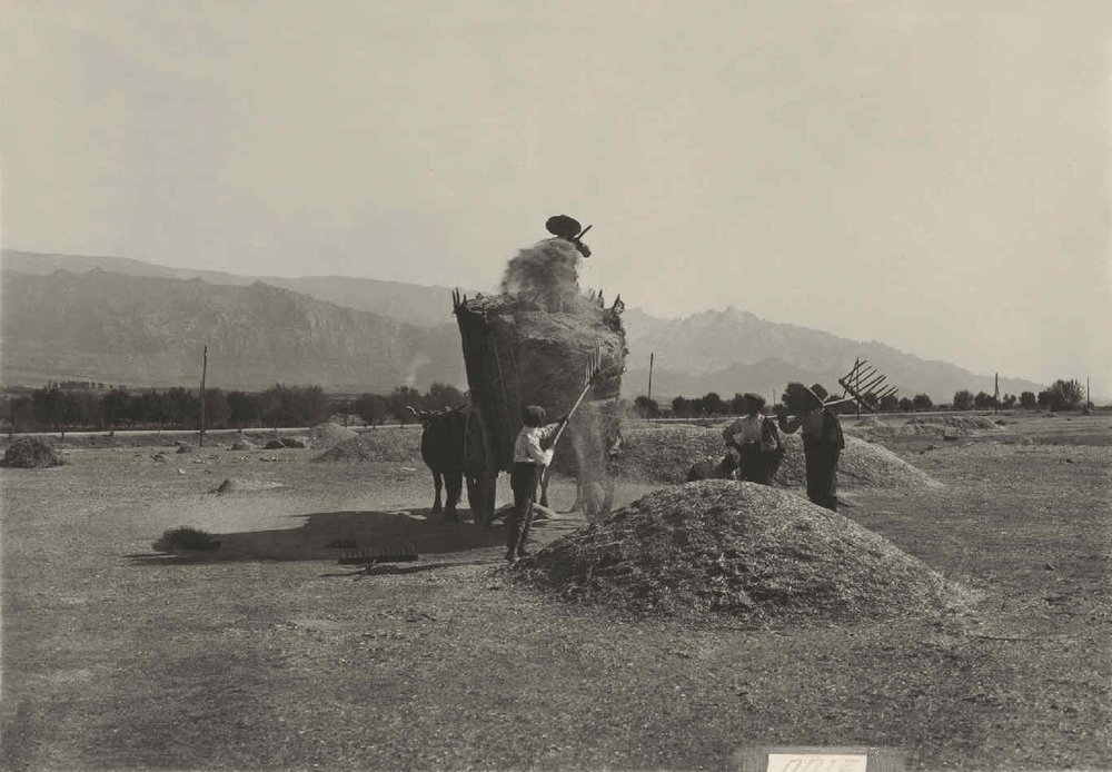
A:
[[[726,481],[651,493],[512,575],[565,601],[752,625],[931,614],[953,598],[878,534],[797,495]]]

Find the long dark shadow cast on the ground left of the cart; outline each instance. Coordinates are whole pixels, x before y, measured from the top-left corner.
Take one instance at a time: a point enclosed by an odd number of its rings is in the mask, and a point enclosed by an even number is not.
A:
[[[463,513],[460,513],[463,514]],[[150,552],[126,555],[137,565],[246,561],[337,561],[384,555],[449,555],[499,546],[502,528],[470,522],[445,522],[430,509],[345,511],[294,515],[299,527],[212,534],[212,551]]]

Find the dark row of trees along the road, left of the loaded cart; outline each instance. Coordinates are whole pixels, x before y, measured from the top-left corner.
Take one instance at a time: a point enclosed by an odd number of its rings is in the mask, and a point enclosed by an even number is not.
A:
[[[400,386],[389,394],[363,394],[354,398],[330,397],[320,386],[277,384],[265,392],[225,392],[205,389],[206,428],[245,428],[252,426],[315,426],[331,416],[355,415],[366,424],[381,424],[389,418],[401,423],[415,420],[406,409],[440,409],[467,402],[467,396],[450,385],[434,384],[421,394]],[[168,389],[131,392],[115,387],[69,389],[61,384],[29,394],[9,395],[0,400],[0,422],[8,432],[70,429],[197,429],[201,420],[199,389],[180,386]]]

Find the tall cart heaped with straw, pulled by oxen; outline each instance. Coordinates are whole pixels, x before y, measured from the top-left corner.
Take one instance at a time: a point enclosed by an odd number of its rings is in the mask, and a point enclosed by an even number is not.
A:
[[[522,407],[545,407],[550,419],[566,414],[584,392],[587,403],[568,427],[569,442],[557,447],[553,466],[583,474],[603,466],[606,434],[617,426],[617,398],[625,366],[620,307],[584,299],[568,311],[546,310],[536,300],[497,295],[468,299],[453,293],[464,349],[471,407],[464,430],[464,477],[476,524],[495,516],[499,472],[510,472]],[[599,416],[609,420],[599,420]],[[566,447],[565,447],[566,446]]]

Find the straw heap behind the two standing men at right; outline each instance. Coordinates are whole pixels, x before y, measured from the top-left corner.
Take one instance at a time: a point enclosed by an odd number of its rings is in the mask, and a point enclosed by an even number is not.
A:
[[[772,482],[778,486],[805,485],[803,441],[798,434],[782,435],[782,438],[786,454]],[[618,475],[638,482],[682,483],[692,464],[706,458],[717,463],[726,452],[721,428],[653,426],[627,429],[623,439]],[[840,484],[846,486],[912,488],[941,485],[891,451],[848,435],[837,474]]]

